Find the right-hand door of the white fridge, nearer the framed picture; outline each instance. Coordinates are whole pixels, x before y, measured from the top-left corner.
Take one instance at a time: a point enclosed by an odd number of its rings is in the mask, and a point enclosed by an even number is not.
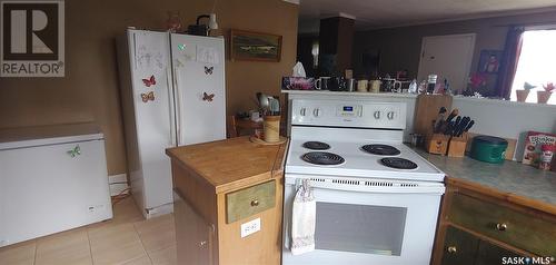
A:
[[[224,39],[171,35],[178,145],[226,138]]]

